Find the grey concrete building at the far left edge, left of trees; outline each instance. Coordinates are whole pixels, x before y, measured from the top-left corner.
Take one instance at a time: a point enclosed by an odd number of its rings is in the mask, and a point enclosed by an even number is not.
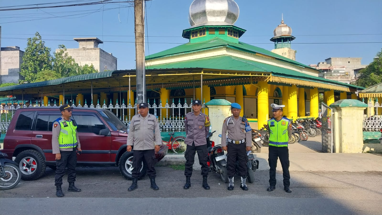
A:
[[[23,63],[24,52],[18,46],[1,47],[0,50],[0,84],[18,83],[23,78],[20,75],[20,65]]]

